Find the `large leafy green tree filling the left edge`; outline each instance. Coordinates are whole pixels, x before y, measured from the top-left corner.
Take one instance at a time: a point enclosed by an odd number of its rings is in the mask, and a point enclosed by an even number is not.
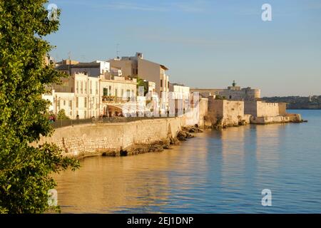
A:
[[[36,143],[53,132],[41,94],[62,76],[44,66],[52,47],[42,37],[58,30],[45,3],[0,1],[0,213],[45,212],[52,174],[78,167],[56,145]]]

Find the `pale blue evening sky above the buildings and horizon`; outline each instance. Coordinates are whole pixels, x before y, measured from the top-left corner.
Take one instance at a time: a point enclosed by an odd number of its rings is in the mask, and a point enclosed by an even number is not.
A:
[[[193,88],[260,88],[263,96],[321,95],[321,0],[49,0],[57,61],[143,53]],[[263,4],[272,21],[263,21]],[[118,45],[117,45],[118,44]],[[118,46],[118,48],[117,48]]]

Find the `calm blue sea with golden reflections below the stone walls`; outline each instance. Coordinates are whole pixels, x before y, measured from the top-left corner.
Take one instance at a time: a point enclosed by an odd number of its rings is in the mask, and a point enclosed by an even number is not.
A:
[[[208,131],[164,152],[90,157],[56,176],[65,213],[321,213],[321,110]],[[272,206],[263,207],[263,189]]]

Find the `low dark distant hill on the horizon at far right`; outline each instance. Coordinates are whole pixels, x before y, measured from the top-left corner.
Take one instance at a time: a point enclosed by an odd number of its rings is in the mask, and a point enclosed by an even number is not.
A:
[[[262,98],[267,102],[285,102],[287,109],[321,109],[321,95]]]

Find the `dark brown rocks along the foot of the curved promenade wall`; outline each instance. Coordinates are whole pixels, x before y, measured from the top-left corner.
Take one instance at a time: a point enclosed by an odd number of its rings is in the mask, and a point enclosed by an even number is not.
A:
[[[203,130],[198,125],[185,126],[178,133],[175,138],[168,136],[162,140],[157,140],[151,143],[137,143],[126,148],[115,149],[101,149],[95,152],[86,152],[86,155],[78,155],[76,158],[83,159],[92,156],[107,156],[107,157],[122,157],[130,155],[139,155],[146,152],[163,152],[170,149],[171,145],[180,145],[180,142],[194,138],[193,133],[203,133]]]

